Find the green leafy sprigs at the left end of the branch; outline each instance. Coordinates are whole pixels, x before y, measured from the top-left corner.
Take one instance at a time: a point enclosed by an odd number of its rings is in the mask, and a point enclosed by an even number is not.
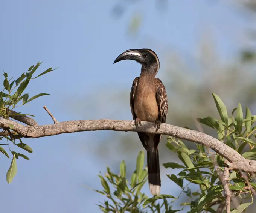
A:
[[[37,69],[41,65],[41,63],[38,62],[36,65],[30,66],[28,71],[26,73],[23,72],[23,74],[21,74],[21,76],[18,77],[16,80],[13,80],[13,78],[8,78],[8,74],[6,72],[3,73],[4,89],[2,92],[0,92],[0,117],[1,118],[11,119],[11,117],[13,117],[14,115],[28,115],[28,114],[20,114],[20,113],[13,114],[12,113],[12,115],[10,117],[11,110],[14,110],[14,108],[19,107],[20,105],[26,105],[30,101],[33,101],[34,99],[36,99],[40,96],[49,95],[47,93],[40,93],[40,94],[37,94],[37,95],[29,98],[29,94],[24,92],[25,89],[27,88],[30,80],[34,80],[48,72],[52,72],[53,70],[55,70],[52,68],[48,68],[46,71],[44,71],[44,72],[40,73],[39,75],[37,75],[36,77],[34,77],[33,74],[35,73],[35,71],[37,71]],[[34,115],[29,115],[29,116],[34,117]],[[32,153],[33,150],[31,147],[29,147],[29,145],[24,144],[20,138],[18,138],[18,143],[17,143],[17,139],[15,141],[14,138],[15,138],[15,136],[18,136],[18,133],[10,132],[10,130],[5,130],[3,128],[1,128],[1,129],[2,129],[1,133],[5,133],[6,131],[9,132],[9,136],[5,136],[5,135],[0,136],[0,140],[3,141],[3,139],[6,139],[6,143],[0,144],[1,145],[0,152],[9,158],[9,154],[6,152],[5,148],[2,147],[2,146],[8,146],[9,151],[13,155],[11,166],[6,174],[7,182],[11,183],[12,179],[14,178],[14,176],[17,173],[16,159],[18,159],[18,157],[22,157],[26,160],[29,160],[29,158],[26,155],[18,152],[16,150],[16,147],[26,150],[29,153]],[[12,150],[11,150],[11,144],[13,145]]]

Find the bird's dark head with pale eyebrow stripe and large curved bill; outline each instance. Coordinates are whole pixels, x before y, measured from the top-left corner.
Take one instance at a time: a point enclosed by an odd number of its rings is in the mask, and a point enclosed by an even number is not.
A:
[[[129,49],[120,54],[114,63],[122,60],[134,60],[142,65],[142,69],[149,69],[154,71],[155,74],[160,68],[160,62],[154,51],[151,49]]]

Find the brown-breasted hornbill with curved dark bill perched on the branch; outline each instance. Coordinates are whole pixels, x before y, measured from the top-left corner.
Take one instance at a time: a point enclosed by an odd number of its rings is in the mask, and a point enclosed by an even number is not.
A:
[[[160,68],[157,54],[151,49],[129,49],[120,54],[114,63],[135,60],[141,64],[140,76],[133,80],[130,92],[130,107],[134,125],[139,128],[141,121],[154,122],[156,132],[161,123],[166,123],[168,100],[165,86],[156,74]],[[158,144],[160,134],[137,132],[147,152],[148,184],[153,196],[160,194],[160,164]]]

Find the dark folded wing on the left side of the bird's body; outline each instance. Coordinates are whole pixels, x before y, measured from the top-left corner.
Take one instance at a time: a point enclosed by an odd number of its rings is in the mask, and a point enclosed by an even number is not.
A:
[[[133,115],[133,120],[135,120],[137,118],[135,111],[134,111],[134,93],[135,93],[135,90],[137,87],[138,79],[139,79],[139,77],[136,77],[133,80],[133,85],[131,86],[131,92],[130,92],[130,106],[131,106],[131,114]],[[137,133],[140,138],[140,141],[142,142],[143,147],[145,149],[147,149],[146,141],[148,140],[148,136],[146,135],[146,133],[142,133],[142,132],[137,132]]]

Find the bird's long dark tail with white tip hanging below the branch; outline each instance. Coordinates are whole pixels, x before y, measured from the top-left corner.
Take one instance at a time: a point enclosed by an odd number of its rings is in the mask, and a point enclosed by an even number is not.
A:
[[[158,147],[155,147],[154,140],[149,139],[147,148],[148,160],[148,184],[152,195],[160,194],[160,165]]]

